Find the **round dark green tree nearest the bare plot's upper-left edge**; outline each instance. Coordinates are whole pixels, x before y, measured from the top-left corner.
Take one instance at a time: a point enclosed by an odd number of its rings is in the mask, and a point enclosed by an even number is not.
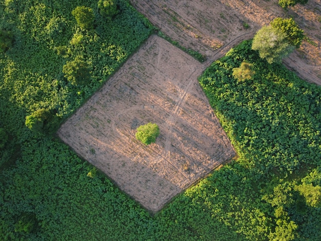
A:
[[[67,61],[63,73],[73,85],[86,85],[90,81],[90,64],[82,56],[76,56],[73,61]]]

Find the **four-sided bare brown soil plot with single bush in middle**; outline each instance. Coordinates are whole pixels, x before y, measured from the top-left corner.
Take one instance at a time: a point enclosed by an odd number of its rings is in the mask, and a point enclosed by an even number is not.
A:
[[[197,82],[205,66],[164,39],[147,43],[71,116],[58,135],[151,211],[235,151]],[[156,123],[144,146],[135,129]]]

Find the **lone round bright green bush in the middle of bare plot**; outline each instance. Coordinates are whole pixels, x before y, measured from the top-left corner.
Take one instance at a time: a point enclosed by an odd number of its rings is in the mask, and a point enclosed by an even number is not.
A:
[[[148,123],[143,126],[139,126],[136,130],[136,139],[140,140],[143,144],[149,145],[156,141],[156,137],[159,135],[159,128],[156,124]]]

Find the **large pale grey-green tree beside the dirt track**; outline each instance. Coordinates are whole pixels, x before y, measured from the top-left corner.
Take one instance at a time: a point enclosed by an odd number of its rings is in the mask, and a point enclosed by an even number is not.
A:
[[[279,63],[294,50],[286,37],[285,33],[278,32],[271,25],[264,26],[256,32],[252,49],[257,50],[259,56],[265,58],[268,63]]]

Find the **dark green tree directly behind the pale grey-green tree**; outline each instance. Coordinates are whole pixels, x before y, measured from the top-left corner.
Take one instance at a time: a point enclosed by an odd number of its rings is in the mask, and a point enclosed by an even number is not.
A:
[[[277,31],[286,34],[286,39],[290,45],[295,46],[295,48],[300,47],[302,40],[305,37],[304,31],[299,28],[292,18],[277,17],[273,19],[270,25]]]

